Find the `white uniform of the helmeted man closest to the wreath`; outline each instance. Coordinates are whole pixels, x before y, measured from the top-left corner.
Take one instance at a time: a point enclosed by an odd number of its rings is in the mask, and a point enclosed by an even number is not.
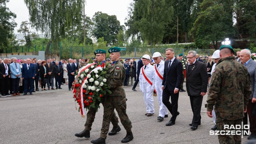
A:
[[[144,102],[146,105],[147,113],[154,114],[154,99],[153,99],[153,92],[154,92],[154,67],[149,63],[146,68],[145,66],[142,67],[144,73],[152,80],[152,86],[148,83],[148,81],[144,78],[142,74],[142,69],[140,69],[140,91],[143,93]],[[144,69],[145,68],[145,69]]]

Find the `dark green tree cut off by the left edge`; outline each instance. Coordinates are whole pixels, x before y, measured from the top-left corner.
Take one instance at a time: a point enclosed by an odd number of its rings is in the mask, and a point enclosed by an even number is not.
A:
[[[17,23],[14,22],[16,14],[11,12],[9,8],[6,7],[6,3],[9,0],[0,0],[0,52],[2,53],[2,48],[8,46],[8,39],[12,38],[12,32]]]

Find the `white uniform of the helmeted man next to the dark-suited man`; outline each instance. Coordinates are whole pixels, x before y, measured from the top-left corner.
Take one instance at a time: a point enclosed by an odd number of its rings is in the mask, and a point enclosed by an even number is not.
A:
[[[157,66],[157,64],[155,64],[155,66]],[[167,113],[166,106],[162,102],[162,96],[163,96],[162,82],[163,82],[163,80],[156,73],[155,66],[153,67],[154,68],[154,81],[155,81],[156,94],[157,94],[157,98],[158,98],[158,102],[159,102],[159,116],[164,118],[164,115],[166,115],[168,113]],[[161,60],[161,62],[159,63],[157,68],[160,73],[164,74],[164,61],[163,60]]]

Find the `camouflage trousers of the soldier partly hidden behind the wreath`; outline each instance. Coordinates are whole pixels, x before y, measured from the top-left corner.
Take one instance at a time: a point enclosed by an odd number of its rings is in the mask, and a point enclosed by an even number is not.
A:
[[[104,101],[102,101],[102,105],[104,107]],[[94,122],[95,115],[96,115],[96,108],[90,108],[86,114],[86,123],[84,124],[85,130],[92,130],[92,123]],[[110,121],[113,124],[114,128],[118,127],[118,118],[115,112],[112,113]]]

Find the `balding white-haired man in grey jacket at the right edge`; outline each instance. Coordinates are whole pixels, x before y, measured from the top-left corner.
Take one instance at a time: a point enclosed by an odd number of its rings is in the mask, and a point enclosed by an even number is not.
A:
[[[247,112],[244,113],[243,122],[244,125],[248,124],[248,116],[249,116],[249,122],[250,122],[250,132],[251,135],[248,136],[248,140],[256,140],[256,117],[252,116],[252,110],[256,104],[256,62],[252,60],[251,58],[251,52],[250,50],[244,49],[240,52],[240,62],[246,66],[248,69],[248,72],[250,74],[250,79],[252,81],[251,88],[252,88],[252,94],[249,98],[248,104],[247,104]],[[247,116],[248,114],[248,116]]]

